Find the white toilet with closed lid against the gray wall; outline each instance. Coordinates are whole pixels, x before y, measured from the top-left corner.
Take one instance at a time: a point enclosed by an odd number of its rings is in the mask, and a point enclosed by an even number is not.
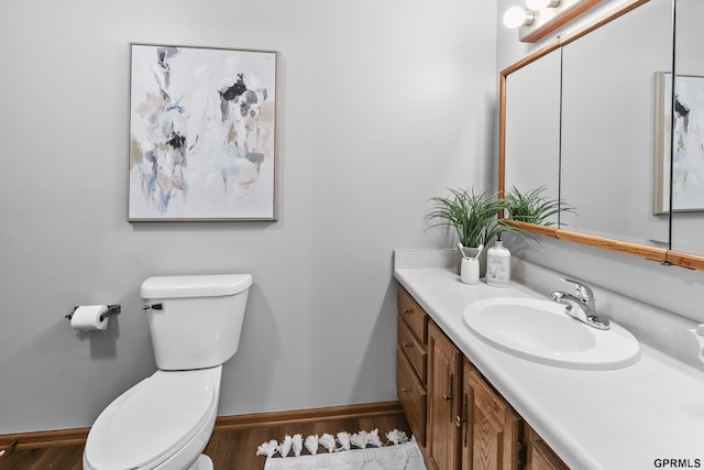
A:
[[[238,350],[250,274],[150,277],[142,284],[156,371],[90,428],[86,470],[204,470],[222,363]]]

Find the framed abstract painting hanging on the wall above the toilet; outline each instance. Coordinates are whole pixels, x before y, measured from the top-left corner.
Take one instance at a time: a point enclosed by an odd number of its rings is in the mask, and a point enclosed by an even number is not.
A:
[[[130,221],[276,220],[276,63],[131,44]]]

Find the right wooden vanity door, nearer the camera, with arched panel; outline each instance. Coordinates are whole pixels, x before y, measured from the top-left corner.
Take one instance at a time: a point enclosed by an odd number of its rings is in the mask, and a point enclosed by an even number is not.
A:
[[[464,462],[463,469],[518,469],[520,417],[475,370],[469,372],[469,387],[472,452],[471,464]]]

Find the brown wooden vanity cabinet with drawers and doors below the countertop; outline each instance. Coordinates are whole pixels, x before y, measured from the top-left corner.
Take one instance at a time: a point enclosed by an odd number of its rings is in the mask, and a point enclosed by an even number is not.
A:
[[[569,470],[398,287],[396,387],[429,470]]]

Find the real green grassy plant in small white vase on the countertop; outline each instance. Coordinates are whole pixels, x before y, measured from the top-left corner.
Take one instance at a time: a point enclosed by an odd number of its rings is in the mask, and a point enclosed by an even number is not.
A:
[[[449,189],[448,197],[433,197],[435,209],[426,215],[431,225],[450,226],[454,229],[462,244],[462,252],[466,256],[475,256],[480,245],[486,245],[499,232],[516,232],[522,230],[510,227],[498,219],[498,214],[505,209],[504,199],[488,190],[475,194],[474,189]],[[480,255],[480,276],[486,273],[486,250]]]

